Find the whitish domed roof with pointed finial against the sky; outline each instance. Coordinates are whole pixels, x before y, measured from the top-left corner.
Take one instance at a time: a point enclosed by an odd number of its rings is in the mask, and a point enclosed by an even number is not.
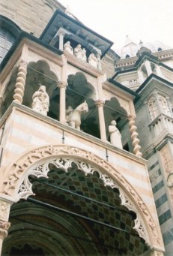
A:
[[[135,57],[138,50],[141,47],[146,47],[149,50],[151,50],[151,53],[156,53],[161,50],[169,50],[172,49],[172,47],[167,46],[166,44],[163,44],[161,41],[154,41],[152,43],[142,43],[135,44],[127,35],[126,42],[124,44],[124,47],[122,47],[120,50],[115,50],[116,53],[118,53],[119,56],[121,56],[121,59],[127,59]]]

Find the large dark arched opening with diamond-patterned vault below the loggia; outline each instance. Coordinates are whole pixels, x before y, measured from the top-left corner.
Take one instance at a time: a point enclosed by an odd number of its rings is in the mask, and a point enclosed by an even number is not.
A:
[[[11,207],[12,225],[3,255],[16,251],[21,255],[25,248],[25,255],[40,251],[40,255],[129,256],[148,250],[133,229],[136,214],[121,205],[114,182],[110,186],[103,181],[108,176],[82,159],[59,158],[46,166],[48,179],[29,178],[35,197]]]

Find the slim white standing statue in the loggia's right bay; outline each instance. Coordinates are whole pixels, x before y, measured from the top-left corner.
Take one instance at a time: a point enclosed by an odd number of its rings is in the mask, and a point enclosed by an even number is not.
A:
[[[110,142],[113,146],[117,146],[120,149],[123,149],[121,143],[121,133],[116,127],[116,121],[112,120],[111,125],[109,125],[109,134],[110,134]]]

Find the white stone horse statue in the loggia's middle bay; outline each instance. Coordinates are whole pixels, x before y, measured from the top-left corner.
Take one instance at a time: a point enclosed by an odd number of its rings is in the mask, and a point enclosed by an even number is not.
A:
[[[66,110],[66,122],[73,128],[80,130],[81,115],[88,112],[88,104],[84,101],[75,110],[69,106]]]

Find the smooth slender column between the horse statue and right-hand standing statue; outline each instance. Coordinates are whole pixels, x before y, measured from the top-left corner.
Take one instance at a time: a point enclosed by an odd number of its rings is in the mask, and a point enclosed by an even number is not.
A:
[[[97,101],[95,101],[95,105],[98,108],[99,124],[100,124],[100,139],[103,141],[107,141],[106,140],[105,117],[104,117],[104,111],[103,111],[104,102],[102,100],[97,100]]]

